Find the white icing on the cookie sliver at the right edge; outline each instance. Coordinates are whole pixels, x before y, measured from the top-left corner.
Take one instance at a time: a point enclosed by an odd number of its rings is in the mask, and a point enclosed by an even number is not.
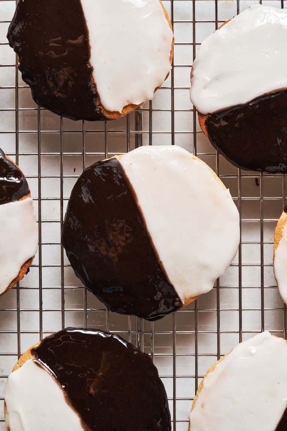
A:
[[[273,268],[279,293],[287,303],[287,224],[282,229],[282,238],[274,253]]]

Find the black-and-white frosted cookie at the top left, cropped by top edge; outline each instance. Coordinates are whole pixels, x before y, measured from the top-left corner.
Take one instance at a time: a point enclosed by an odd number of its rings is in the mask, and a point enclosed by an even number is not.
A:
[[[7,38],[35,102],[74,120],[117,119],[153,99],[173,59],[160,0],[19,0]]]

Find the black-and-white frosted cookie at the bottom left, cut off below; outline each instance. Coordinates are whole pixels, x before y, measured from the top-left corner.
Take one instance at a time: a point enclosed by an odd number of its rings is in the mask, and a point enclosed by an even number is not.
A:
[[[29,396],[27,396],[29,394]],[[8,431],[170,431],[150,356],[115,334],[67,328],[31,347],[5,387]]]

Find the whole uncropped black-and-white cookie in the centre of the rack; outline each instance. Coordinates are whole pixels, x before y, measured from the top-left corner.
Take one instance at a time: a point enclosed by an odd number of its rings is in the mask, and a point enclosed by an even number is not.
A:
[[[239,238],[229,191],[177,146],[140,147],[89,166],[62,231],[83,284],[111,311],[149,320],[211,290]]]

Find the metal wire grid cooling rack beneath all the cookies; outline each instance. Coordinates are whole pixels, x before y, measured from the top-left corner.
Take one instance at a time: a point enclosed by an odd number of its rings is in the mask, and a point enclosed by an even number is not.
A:
[[[175,34],[169,78],[153,101],[129,116],[89,123],[62,119],[35,105],[6,41],[15,0],[0,0],[0,147],[28,178],[40,221],[40,247],[29,274],[0,298],[1,430],[3,390],[18,357],[65,326],[113,331],[150,353],[167,390],[174,431],[187,429],[198,384],[220,356],[264,329],[286,338],[286,307],[272,269],[275,225],[285,206],[285,175],[241,171],[216,154],[201,132],[188,94],[191,65],[204,38],[258,1],[163,3]],[[262,3],[286,7],[281,0]],[[83,169],[143,144],[177,144],[194,152],[230,189],[241,218],[238,256],[213,290],[154,323],[109,313],[80,285],[60,245],[68,197]],[[216,223],[212,215],[210,222]]]

